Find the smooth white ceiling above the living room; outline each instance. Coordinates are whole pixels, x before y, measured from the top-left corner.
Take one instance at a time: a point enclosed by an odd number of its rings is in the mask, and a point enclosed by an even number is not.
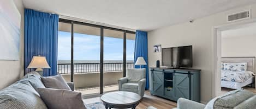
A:
[[[255,0],[22,1],[29,9],[146,31],[256,3]]]

